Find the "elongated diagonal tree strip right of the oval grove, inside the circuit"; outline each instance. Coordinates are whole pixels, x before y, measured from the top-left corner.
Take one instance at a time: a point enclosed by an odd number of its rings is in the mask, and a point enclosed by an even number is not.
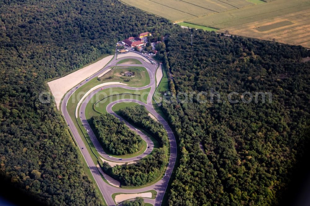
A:
[[[120,109],[121,115],[135,125],[145,129],[153,135],[162,146],[168,145],[168,136],[161,123],[148,115],[148,111],[142,105]]]

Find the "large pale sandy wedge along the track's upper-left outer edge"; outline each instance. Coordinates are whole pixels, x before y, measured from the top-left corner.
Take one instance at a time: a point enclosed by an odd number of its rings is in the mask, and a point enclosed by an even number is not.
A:
[[[110,55],[69,75],[48,82],[47,84],[55,98],[57,108],[59,109],[62,97],[69,89],[102,69],[112,58],[113,55]]]

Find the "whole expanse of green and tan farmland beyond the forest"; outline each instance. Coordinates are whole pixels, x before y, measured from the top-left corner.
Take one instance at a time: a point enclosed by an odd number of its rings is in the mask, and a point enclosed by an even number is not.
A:
[[[310,0],[121,1],[182,27],[310,48]]]

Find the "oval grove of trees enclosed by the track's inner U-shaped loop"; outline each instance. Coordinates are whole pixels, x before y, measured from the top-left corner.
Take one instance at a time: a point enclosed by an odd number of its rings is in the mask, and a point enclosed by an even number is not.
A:
[[[101,114],[91,118],[100,144],[116,155],[126,155],[139,152],[142,149],[142,139],[131,131],[124,122],[112,114]]]

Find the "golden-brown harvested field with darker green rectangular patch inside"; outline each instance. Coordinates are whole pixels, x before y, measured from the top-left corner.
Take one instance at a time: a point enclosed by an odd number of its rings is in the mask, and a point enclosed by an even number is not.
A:
[[[310,48],[310,9],[225,28],[219,32]]]

